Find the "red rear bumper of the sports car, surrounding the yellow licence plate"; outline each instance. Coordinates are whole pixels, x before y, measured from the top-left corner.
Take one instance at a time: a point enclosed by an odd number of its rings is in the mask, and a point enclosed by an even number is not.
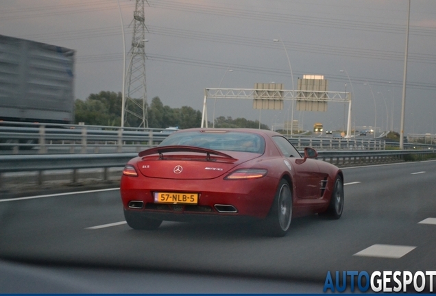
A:
[[[161,220],[181,221],[183,218],[180,216],[222,216],[224,219],[241,216],[263,219],[267,216],[274,200],[276,183],[277,180],[271,177],[241,181],[171,180],[169,182],[169,180],[123,176],[121,199],[125,210],[165,217]],[[155,204],[154,192],[162,191],[198,193],[198,203],[196,205]],[[142,205],[135,204],[132,208],[130,207],[132,201],[142,202]]]

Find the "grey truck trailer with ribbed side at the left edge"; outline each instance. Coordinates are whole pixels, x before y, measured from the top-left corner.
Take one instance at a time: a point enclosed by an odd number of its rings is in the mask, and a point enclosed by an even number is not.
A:
[[[75,51],[0,35],[0,123],[74,121]]]

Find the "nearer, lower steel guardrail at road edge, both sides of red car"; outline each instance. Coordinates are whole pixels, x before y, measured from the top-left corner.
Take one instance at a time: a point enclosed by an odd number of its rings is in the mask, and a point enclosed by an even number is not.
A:
[[[339,167],[353,164],[375,164],[397,162],[411,154],[436,153],[436,149],[391,150],[391,151],[318,151],[318,159]],[[101,154],[58,154],[58,155],[10,155],[0,158],[1,175],[13,172],[38,171],[38,184],[43,184],[44,171],[72,170],[72,182],[77,182],[79,169],[104,169],[104,180],[108,180],[109,168],[122,168],[137,153]]]

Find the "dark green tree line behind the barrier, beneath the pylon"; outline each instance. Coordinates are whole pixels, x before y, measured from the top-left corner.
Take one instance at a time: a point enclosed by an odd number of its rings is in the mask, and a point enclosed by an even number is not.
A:
[[[110,91],[101,91],[98,94],[90,94],[85,101],[75,100],[75,124],[84,122],[86,125],[121,125],[121,92],[115,93]],[[133,102],[132,102],[133,101]],[[142,100],[129,100],[128,110],[132,113],[142,114]],[[171,108],[164,106],[159,97],[154,97],[152,103],[146,106],[148,114],[148,127],[167,128],[177,126],[180,129],[191,127],[200,127],[202,123],[202,112],[194,110],[189,106],[182,108]],[[138,127],[141,125],[141,119],[127,113],[127,123],[125,126]],[[213,126],[208,122],[208,125]],[[232,119],[232,117],[219,116],[215,119],[215,127],[249,127],[258,128],[258,121],[250,121],[243,118]],[[261,129],[269,130],[267,125],[262,124]]]

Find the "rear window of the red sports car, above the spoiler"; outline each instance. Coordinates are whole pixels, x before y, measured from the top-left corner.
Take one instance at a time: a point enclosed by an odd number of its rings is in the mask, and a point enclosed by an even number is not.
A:
[[[265,140],[263,137],[243,132],[178,132],[168,136],[159,146],[170,145],[260,154],[263,154],[265,151]]]

